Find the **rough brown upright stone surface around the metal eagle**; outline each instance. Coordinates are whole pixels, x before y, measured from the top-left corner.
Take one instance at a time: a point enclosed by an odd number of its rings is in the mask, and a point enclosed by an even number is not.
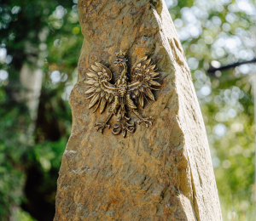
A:
[[[222,220],[201,110],[165,3],[79,0],[79,13],[84,44],[70,96],[73,129],[61,163],[55,221]],[[154,117],[153,126],[137,125],[125,139],[111,129],[97,133],[94,124],[106,111],[93,113],[84,99],[90,65],[102,62],[114,70],[120,49],[127,50],[129,69],[148,55],[162,85],[154,104],[139,109]]]

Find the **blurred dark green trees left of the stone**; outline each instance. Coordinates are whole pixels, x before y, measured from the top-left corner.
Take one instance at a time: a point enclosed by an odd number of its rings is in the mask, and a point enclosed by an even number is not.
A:
[[[0,220],[54,217],[82,42],[76,1],[0,0]]]

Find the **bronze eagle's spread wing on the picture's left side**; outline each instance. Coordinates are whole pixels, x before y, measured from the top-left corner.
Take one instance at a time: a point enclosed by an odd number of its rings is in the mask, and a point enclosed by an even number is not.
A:
[[[95,64],[91,65],[90,72],[86,73],[87,79],[85,83],[89,86],[89,89],[85,94],[89,94],[89,97],[86,98],[90,99],[89,108],[97,104],[95,111],[100,106],[100,112],[102,113],[106,104],[110,104],[113,101],[114,95],[117,94],[117,89],[110,83],[112,73],[108,67],[97,62]]]

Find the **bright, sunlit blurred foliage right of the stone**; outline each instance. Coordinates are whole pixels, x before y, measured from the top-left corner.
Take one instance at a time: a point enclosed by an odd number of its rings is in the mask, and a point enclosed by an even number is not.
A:
[[[224,220],[253,220],[253,1],[169,1],[195,82]],[[192,3],[192,4],[191,4]]]

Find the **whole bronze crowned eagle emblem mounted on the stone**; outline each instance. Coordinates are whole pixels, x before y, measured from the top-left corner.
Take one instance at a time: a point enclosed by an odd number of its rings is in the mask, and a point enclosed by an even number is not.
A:
[[[100,113],[105,109],[108,104],[109,115],[105,122],[95,124],[97,130],[103,133],[105,127],[110,128],[108,125],[109,120],[113,115],[117,115],[117,124],[113,124],[113,134],[118,135],[122,132],[124,138],[126,132],[134,133],[134,122],[129,122],[131,119],[125,114],[127,111],[131,111],[139,121],[138,124],[144,123],[146,127],[152,125],[153,117],[149,116],[144,118],[137,112],[137,105],[144,106],[144,99],[149,104],[154,101],[154,95],[151,90],[157,90],[155,86],[160,86],[159,82],[154,80],[159,73],[156,73],[155,65],[151,63],[151,59],[143,57],[131,68],[131,82],[127,77],[127,65],[126,52],[120,51],[116,53],[117,59],[114,61],[114,66],[119,66],[123,70],[119,73],[119,77],[116,82],[112,84],[110,81],[113,78],[112,72],[101,63],[96,62],[95,65],[91,65],[91,70],[86,73],[88,76],[85,83],[89,89],[85,94],[89,94],[86,99],[90,99],[89,109],[96,105],[95,112],[100,107]],[[134,102],[135,100],[135,102]]]

